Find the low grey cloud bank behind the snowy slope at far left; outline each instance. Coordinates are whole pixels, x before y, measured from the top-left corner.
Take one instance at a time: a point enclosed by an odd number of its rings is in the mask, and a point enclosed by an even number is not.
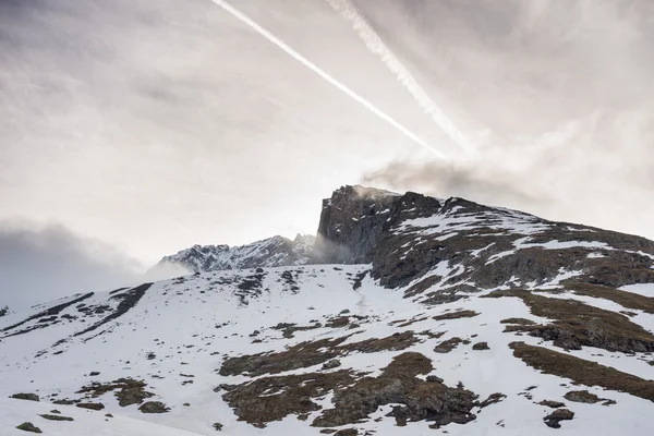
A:
[[[145,281],[144,266],[61,225],[0,222],[0,306],[12,311]]]

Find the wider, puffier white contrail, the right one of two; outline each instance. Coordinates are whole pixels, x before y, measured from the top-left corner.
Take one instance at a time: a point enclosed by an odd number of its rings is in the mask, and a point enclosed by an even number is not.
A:
[[[404,68],[402,62],[392,53],[390,48],[384,44],[375,29],[361,15],[356,7],[349,0],[327,0],[341,16],[352,23],[354,31],[359,34],[366,47],[382,58],[382,61],[396,75],[402,86],[411,93],[420,107],[432,117],[443,131],[461,148],[470,152],[472,146],[465,135],[457,129],[452,120],[429,98],[427,93],[420,86],[413,75]]]

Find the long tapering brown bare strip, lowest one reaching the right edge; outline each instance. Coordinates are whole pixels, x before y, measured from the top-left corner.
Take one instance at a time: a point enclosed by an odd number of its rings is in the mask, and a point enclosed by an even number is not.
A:
[[[578,385],[600,386],[654,401],[654,382],[566,353],[511,342],[513,355],[545,374],[569,378]]]

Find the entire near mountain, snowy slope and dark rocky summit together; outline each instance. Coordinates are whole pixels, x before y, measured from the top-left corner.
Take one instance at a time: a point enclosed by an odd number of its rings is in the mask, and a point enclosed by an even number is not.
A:
[[[654,242],[344,186],[307,257],[0,318],[0,433],[654,432]]]

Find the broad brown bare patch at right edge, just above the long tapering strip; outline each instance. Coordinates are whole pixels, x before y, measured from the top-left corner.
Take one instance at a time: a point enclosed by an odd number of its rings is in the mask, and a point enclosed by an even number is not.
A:
[[[582,346],[626,353],[654,351],[654,336],[625,315],[574,300],[550,299],[525,290],[495,291],[484,298],[517,296],[532,314],[552,324],[509,326],[505,331],[525,331],[552,340],[556,347],[580,350]]]

